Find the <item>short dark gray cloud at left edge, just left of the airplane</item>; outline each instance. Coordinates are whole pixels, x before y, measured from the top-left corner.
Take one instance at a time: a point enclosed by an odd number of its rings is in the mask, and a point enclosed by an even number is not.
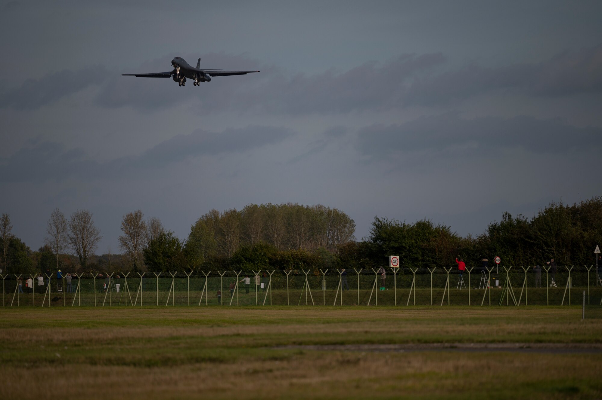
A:
[[[17,88],[0,93],[0,108],[37,109],[91,85],[100,85],[110,75],[102,65],[62,70],[39,79],[27,79]]]

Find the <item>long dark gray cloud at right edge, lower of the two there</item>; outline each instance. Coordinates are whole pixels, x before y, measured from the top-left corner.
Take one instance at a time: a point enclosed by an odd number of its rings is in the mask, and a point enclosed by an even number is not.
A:
[[[560,120],[533,117],[482,117],[456,114],[421,117],[405,124],[374,124],[358,132],[356,148],[377,157],[396,151],[445,150],[470,145],[486,148],[521,147],[535,153],[560,153],[602,147],[602,128],[569,126]]]

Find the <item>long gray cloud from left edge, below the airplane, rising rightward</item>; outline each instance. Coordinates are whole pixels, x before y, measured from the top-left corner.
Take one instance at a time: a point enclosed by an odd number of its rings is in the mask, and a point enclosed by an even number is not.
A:
[[[195,130],[177,135],[144,151],[137,157],[96,162],[80,149],[66,150],[56,142],[32,141],[6,159],[0,159],[0,181],[61,181],[69,177],[86,180],[116,178],[140,169],[163,168],[191,157],[243,153],[266,145],[279,144],[293,135],[282,127],[248,126],[222,132]]]

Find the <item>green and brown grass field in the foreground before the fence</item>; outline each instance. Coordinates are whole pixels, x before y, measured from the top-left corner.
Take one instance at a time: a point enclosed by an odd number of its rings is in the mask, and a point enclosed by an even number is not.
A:
[[[580,313],[453,306],[0,309],[0,398],[601,398],[602,320],[582,321]],[[543,348],[455,348],[473,343]],[[355,346],[371,344],[418,348]],[[452,345],[424,348],[429,344]],[[578,345],[586,348],[573,352]]]

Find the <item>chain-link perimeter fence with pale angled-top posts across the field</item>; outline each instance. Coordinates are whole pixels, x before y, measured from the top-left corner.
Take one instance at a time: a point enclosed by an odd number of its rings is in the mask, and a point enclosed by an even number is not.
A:
[[[110,275],[110,276],[109,276]],[[119,277],[118,277],[119,276]],[[557,271],[500,267],[386,270],[229,270],[205,272],[82,274],[72,282],[56,275],[33,288],[29,277],[0,276],[2,306],[413,306],[413,305],[580,305],[586,317],[600,313],[602,286],[595,268]],[[248,280],[247,280],[248,278]],[[540,282],[541,281],[541,282]],[[245,282],[249,282],[247,285]]]

